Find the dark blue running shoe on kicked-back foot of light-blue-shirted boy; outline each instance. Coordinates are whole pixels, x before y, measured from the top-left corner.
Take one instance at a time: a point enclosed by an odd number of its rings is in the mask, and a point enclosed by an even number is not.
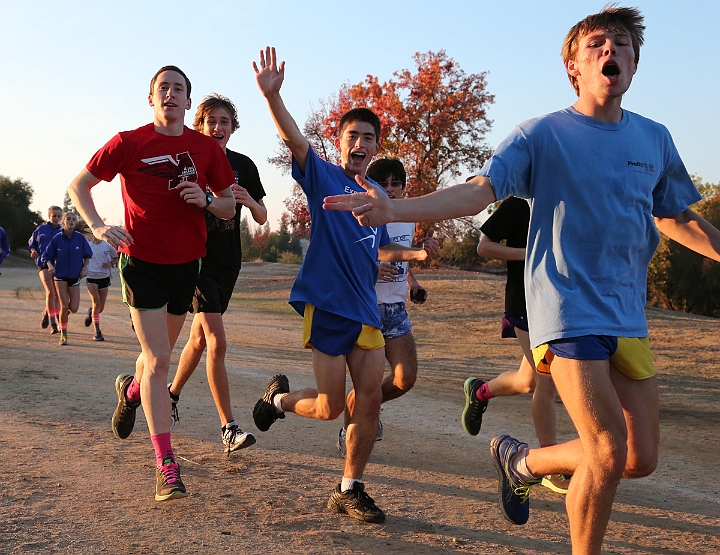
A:
[[[498,473],[498,498],[505,518],[513,524],[525,524],[530,518],[530,488],[540,480],[526,482],[512,469],[511,462],[527,443],[510,436],[496,436],[490,442],[490,455]]]

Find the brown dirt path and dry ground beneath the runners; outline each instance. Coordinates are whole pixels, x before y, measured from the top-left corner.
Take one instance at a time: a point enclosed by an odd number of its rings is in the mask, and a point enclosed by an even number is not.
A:
[[[296,267],[250,264],[227,313],[235,416],[268,378],[313,383],[288,307]],[[518,349],[498,338],[502,278],[465,272],[420,275],[428,303],[411,307],[421,374],[385,405],[385,439],[368,467],[368,492],[388,514],[368,525],[324,511],[342,461],[338,422],[290,415],[258,443],[227,457],[200,369],[183,392],[173,443],[190,496],[153,498],[152,447],[142,411],[125,441],[110,430],[115,376],[139,352],[118,280],[95,343],[71,317],[70,345],[40,329],[42,294],[32,268],[0,277],[0,553],[569,553],[563,498],[535,488],[525,526],[496,507],[489,440],[533,443],[529,397],[491,402],[478,437],[460,426],[462,383],[516,367]],[[84,285],[80,314],[89,306]],[[720,549],[720,354],[717,320],[649,310],[661,385],[658,471],[621,484],[608,553],[717,553]],[[179,344],[187,337],[189,323]],[[176,349],[177,360],[179,349]],[[561,409],[560,409],[561,410]],[[566,416],[560,437],[573,437]]]

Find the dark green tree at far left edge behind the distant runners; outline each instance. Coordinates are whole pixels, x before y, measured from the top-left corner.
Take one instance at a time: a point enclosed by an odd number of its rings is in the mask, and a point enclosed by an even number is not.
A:
[[[39,212],[30,210],[34,194],[27,181],[0,175],[0,226],[7,232],[13,252],[27,246],[33,230],[43,221]]]

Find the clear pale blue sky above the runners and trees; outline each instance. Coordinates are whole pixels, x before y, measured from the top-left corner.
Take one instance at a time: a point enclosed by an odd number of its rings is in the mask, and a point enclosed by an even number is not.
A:
[[[251,62],[274,45],[287,63],[285,102],[302,126],[313,106],[367,74],[387,80],[415,52],[445,49],[466,73],[488,71],[495,95],[488,144],[512,127],[575,101],[560,47],[603,0],[0,0],[0,174],[30,182],[32,208],[62,204],[67,185],[115,133],[152,121],[149,81],[181,67],[194,107],[230,97],[240,129],[229,147],[258,165],[268,220],[277,228],[290,177],[267,164],[275,127]],[[646,0],[647,31],[623,106],[665,124],[690,173],[720,182],[717,0]],[[598,146],[602,148],[602,145]],[[93,189],[100,214],[122,221],[120,185]],[[1,224],[1,222],[0,222]]]

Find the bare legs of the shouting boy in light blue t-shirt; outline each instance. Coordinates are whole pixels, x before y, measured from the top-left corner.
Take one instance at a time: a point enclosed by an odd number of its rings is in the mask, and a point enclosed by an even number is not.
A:
[[[573,474],[566,499],[573,553],[599,554],[621,477],[646,476],[657,464],[657,382],[630,380],[608,361],[557,356],[551,372],[580,439],[531,449],[528,469]]]

